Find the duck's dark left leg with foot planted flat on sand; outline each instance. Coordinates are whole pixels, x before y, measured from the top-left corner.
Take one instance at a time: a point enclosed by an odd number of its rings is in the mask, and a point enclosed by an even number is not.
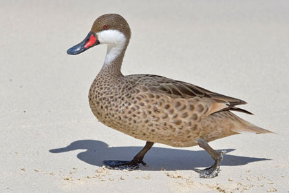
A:
[[[147,163],[144,163],[142,159],[144,159],[144,155],[153,147],[153,142],[147,141],[144,148],[136,154],[136,156],[133,157],[131,161],[112,161],[112,160],[105,160],[103,163],[107,165],[108,167],[111,167],[113,169],[117,170],[136,170],[136,168],[139,167],[139,164],[147,165]]]

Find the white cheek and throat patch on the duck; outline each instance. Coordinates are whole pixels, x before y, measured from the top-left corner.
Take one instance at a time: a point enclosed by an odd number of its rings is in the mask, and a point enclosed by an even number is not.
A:
[[[104,30],[97,33],[100,44],[107,44],[107,56],[105,64],[111,63],[122,52],[127,39],[122,32],[118,30]]]

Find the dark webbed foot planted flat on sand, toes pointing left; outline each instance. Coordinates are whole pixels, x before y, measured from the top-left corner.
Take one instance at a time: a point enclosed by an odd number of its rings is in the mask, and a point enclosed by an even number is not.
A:
[[[140,167],[140,163],[142,165],[147,165],[143,161],[118,161],[118,160],[105,160],[103,161],[107,168],[113,170],[136,170]]]

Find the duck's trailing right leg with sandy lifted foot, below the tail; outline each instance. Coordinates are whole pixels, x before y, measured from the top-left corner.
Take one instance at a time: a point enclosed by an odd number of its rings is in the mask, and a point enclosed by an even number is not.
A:
[[[211,157],[215,160],[214,165],[212,165],[211,167],[208,167],[208,168],[206,168],[204,170],[200,170],[199,171],[200,177],[201,178],[205,178],[205,179],[214,178],[215,176],[217,176],[217,174],[220,171],[220,164],[221,164],[221,161],[223,159],[223,154],[226,153],[226,151],[216,152],[202,138],[200,138],[197,141],[197,144],[199,144],[200,148],[203,148],[204,150],[206,150],[206,152],[208,152],[208,154],[210,154]]]

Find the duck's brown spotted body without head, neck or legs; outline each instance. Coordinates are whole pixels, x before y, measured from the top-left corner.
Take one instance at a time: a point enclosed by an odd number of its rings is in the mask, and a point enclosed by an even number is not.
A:
[[[89,90],[92,112],[100,122],[136,139],[189,147],[199,138],[213,141],[237,131],[263,131],[223,110],[230,101],[244,101],[156,75],[111,79],[106,72],[100,71]]]

